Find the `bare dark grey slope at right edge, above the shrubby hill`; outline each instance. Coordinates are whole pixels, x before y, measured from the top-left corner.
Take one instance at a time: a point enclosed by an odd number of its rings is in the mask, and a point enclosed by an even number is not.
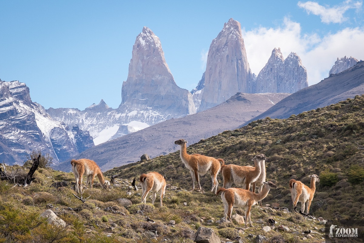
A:
[[[288,118],[292,114],[324,107],[362,94],[364,94],[364,62],[360,62],[339,74],[332,74],[320,83],[289,95],[250,121],[265,117]],[[245,122],[240,127],[250,121]]]

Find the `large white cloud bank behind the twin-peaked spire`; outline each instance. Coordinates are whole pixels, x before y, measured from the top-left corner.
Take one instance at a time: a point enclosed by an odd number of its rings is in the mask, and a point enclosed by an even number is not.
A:
[[[309,85],[327,78],[337,58],[353,56],[364,59],[364,28],[345,28],[320,38],[316,33],[302,34],[299,23],[284,19],[282,27],[242,29],[246,55],[252,72],[258,75],[274,47],[283,57],[296,52],[306,67]]]

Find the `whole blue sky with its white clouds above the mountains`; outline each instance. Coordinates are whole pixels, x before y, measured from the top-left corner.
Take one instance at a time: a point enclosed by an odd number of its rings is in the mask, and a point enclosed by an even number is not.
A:
[[[364,59],[362,1],[0,1],[0,79],[19,80],[44,107],[120,105],[132,45],[143,26],[161,40],[179,87],[193,89],[211,41],[241,23],[256,74],[274,47],[296,52],[309,85],[337,57]]]

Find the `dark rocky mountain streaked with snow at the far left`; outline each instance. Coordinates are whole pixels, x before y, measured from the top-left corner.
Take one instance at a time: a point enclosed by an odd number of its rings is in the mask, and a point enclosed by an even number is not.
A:
[[[33,103],[29,88],[19,81],[0,80],[0,160],[22,164],[27,154],[40,149],[57,164],[93,146],[87,131],[75,134],[63,122],[54,121],[43,106]],[[79,144],[76,146],[76,144]]]

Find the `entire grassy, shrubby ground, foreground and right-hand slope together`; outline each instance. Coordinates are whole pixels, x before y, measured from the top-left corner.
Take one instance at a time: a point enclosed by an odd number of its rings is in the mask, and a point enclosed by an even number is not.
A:
[[[244,128],[225,131],[217,136],[201,140],[187,148],[188,153],[201,153],[223,158],[226,164],[252,165],[255,154],[264,153],[267,180],[278,185],[263,200],[263,204],[279,203],[281,207],[292,210],[288,187],[290,178],[302,180],[309,185],[308,175],[317,174],[320,182],[311,212],[324,219],[362,219],[364,216],[364,96],[356,96],[338,104],[292,115],[288,119],[265,118],[250,123]],[[173,142],[173,141],[171,141]],[[5,161],[6,162],[6,161]],[[12,166],[9,170],[27,169]],[[165,173],[167,183],[181,187],[167,190],[163,207],[159,199],[155,207],[139,204],[141,196],[127,186],[141,173],[157,171]],[[36,180],[26,188],[0,181],[0,243],[2,242],[193,242],[196,229],[201,225],[213,228],[223,240],[233,242],[239,235],[245,241],[249,234],[264,235],[267,242],[322,242],[323,235],[312,234],[313,239],[303,240],[304,230],[321,232],[323,226],[317,221],[303,218],[297,213],[272,211],[269,208],[252,208],[253,226],[244,234],[240,224],[216,223],[223,216],[220,196],[210,192],[211,177],[201,178],[205,193],[190,192],[191,175],[179,158],[179,151],[160,156],[150,161],[136,162],[104,173],[106,179],[119,174],[123,178],[122,187],[109,191],[99,188],[87,189],[83,197],[90,196],[86,203],[76,199],[71,187],[55,189],[50,185],[57,181],[74,181],[72,173],[39,169],[34,174]],[[128,180],[127,182],[125,180]],[[222,176],[218,176],[219,186]],[[86,178],[84,178],[86,181]],[[97,183],[97,178],[95,179]],[[129,193],[130,194],[130,193]],[[151,194],[149,195],[151,196]],[[127,198],[131,207],[122,207],[116,199]],[[151,203],[148,197],[147,202]],[[184,205],[184,203],[187,205]],[[52,210],[62,218],[67,227],[55,227],[39,218],[52,204]],[[112,207],[112,213],[104,208]],[[71,210],[78,209],[78,210]],[[300,208],[300,203],[298,204]],[[143,210],[140,215],[138,210]],[[245,210],[234,208],[233,214],[244,215]],[[146,216],[155,220],[147,222]],[[278,224],[290,228],[289,232],[262,231],[263,220],[273,217]],[[201,220],[202,219],[202,220]],[[207,223],[207,220],[213,223]],[[175,226],[169,224],[175,221]],[[114,225],[116,224],[116,226]],[[276,226],[277,226],[276,225]],[[150,231],[157,230],[157,238]],[[293,231],[300,234],[294,235]],[[360,232],[363,229],[359,230]]]

